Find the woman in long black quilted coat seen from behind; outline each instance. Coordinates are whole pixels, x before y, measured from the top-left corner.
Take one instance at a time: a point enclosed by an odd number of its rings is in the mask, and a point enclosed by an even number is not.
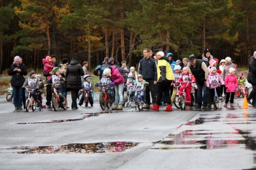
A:
[[[84,70],[79,64],[79,59],[73,57],[69,65],[67,65],[67,89],[71,91],[72,99],[72,109],[78,109],[76,99],[78,97],[78,92],[82,89],[81,76],[84,75]]]

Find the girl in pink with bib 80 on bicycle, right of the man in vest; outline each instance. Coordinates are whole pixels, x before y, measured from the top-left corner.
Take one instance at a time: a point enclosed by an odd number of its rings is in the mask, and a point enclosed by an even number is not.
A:
[[[219,87],[219,83],[224,85],[224,80],[221,78],[221,76],[217,73],[216,67],[211,67],[211,73],[207,77],[206,85],[209,88],[209,96],[208,96],[208,107],[210,107],[210,104],[213,103],[213,99],[215,96],[215,90],[214,87]],[[212,87],[211,87],[212,85]],[[217,90],[217,89],[216,89]],[[213,108],[213,104],[212,104]]]

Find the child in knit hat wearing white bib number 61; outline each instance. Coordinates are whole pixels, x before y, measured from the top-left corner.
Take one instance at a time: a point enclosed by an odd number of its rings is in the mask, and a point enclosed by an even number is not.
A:
[[[35,89],[31,92],[31,96],[34,98],[35,102],[39,102],[38,96],[36,95],[36,91],[39,89],[39,82],[35,78],[35,71],[33,70],[29,71],[29,78],[26,79],[22,87]],[[28,98],[28,96],[29,96],[29,92],[27,93],[26,99]]]

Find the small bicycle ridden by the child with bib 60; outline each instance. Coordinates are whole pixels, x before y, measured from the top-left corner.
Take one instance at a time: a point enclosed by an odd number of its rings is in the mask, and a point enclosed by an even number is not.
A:
[[[58,108],[63,108],[64,110],[67,110],[67,98],[66,96],[63,96],[65,100],[65,105],[62,104],[60,95],[58,94],[57,89],[52,84],[52,108],[54,111],[58,111]]]

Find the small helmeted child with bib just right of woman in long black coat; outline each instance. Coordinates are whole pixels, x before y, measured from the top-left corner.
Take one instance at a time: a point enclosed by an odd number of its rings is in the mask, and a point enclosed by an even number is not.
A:
[[[86,74],[84,75],[84,82],[82,84],[82,88],[81,91],[86,91],[86,92],[90,92],[88,94],[88,100],[90,102],[90,105],[91,107],[93,107],[93,96],[92,96],[92,93],[93,93],[93,85],[91,83],[91,78],[90,78],[90,75],[89,74]],[[81,96],[81,99],[79,101],[79,106],[81,106],[84,102],[84,93],[82,93],[82,96]],[[88,106],[88,103],[86,103],[85,107]]]

